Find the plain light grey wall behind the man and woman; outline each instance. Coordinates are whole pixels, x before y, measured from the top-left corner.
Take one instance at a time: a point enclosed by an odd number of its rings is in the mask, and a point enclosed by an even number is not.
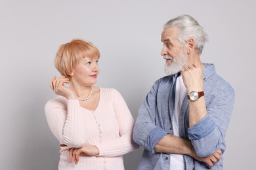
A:
[[[190,14],[209,34],[202,61],[236,90],[224,169],[255,169],[255,1],[0,0],[0,169],[57,169],[58,141],[44,113],[55,97],[49,81],[58,46],[74,38],[101,52],[96,86],[116,88],[133,117],[154,81],[164,76],[162,26]],[[142,149],[125,155],[136,169]]]

